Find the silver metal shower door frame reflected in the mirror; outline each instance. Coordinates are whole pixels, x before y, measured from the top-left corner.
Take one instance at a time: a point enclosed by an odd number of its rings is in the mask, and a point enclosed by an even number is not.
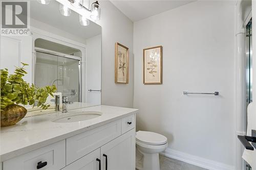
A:
[[[39,53],[45,53],[45,54],[50,54],[50,55],[54,55],[57,57],[63,57],[63,58],[68,58],[68,59],[73,59],[73,60],[77,60],[78,61],[78,89],[79,89],[79,93],[78,93],[78,99],[79,102],[82,102],[82,65],[81,65],[81,61],[82,58],[78,57],[78,56],[72,56],[72,55],[68,55],[68,54],[63,54],[63,53],[59,53],[59,52],[55,52],[52,50],[47,50],[45,48],[39,48],[39,47],[34,47],[35,52],[39,52]],[[35,63],[36,63],[36,53],[35,53]],[[63,94],[63,93],[62,93]]]

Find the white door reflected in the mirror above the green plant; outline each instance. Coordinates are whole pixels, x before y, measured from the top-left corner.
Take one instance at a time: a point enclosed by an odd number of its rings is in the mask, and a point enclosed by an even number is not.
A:
[[[32,83],[32,37],[31,36],[1,36],[0,68],[8,68],[13,74],[14,66],[21,66],[20,62],[29,64],[26,66],[28,74],[24,80]]]

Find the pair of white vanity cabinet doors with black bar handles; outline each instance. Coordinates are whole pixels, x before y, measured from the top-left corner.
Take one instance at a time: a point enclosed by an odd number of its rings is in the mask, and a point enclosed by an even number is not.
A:
[[[62,170],[134,170],[135,129],[106,143]]]

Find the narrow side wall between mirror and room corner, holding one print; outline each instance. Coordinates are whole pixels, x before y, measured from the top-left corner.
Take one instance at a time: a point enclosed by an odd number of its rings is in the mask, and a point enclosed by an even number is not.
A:
[[[101,104],[133,107],[133,22],[110,1],[100,1],[102,27]],[[130,50],[129,84],[115,84],[115,42]]]

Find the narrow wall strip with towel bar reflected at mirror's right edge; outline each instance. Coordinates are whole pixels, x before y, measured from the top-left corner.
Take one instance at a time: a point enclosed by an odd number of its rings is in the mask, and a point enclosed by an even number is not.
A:
[[[101,104],[101,34],[86,40],[86,103]]]

